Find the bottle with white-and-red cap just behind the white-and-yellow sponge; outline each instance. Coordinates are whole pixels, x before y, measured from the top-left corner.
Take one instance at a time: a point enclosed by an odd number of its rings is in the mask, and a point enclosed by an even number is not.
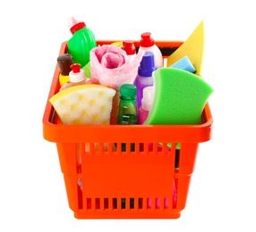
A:
[[[80,63],[73,63],[71,65],[72,70],[69,73],[69,81],[64,83],[64,85],[60,88],[61,90],[64,90],[67,87],[73,87],[78,85],[84,85],[87,83],[87,79],[85,76],[84,70],[81,70],[81,64]]]

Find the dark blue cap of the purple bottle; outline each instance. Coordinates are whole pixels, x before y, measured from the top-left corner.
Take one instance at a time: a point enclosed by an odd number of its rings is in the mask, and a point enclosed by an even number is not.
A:
[[[151,77],[154,70],[157,70],[154,61],[154,54],[147,51],[142,57],[140,67],[138,69],[138,74],[141,77]]]

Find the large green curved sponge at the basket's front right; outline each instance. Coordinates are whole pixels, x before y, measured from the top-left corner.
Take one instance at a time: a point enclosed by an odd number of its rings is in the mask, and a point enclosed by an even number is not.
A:
[[[213,88],[192,72],[176,68],[160,68],[153,77],[154,102],[144,124],[199,124]]]

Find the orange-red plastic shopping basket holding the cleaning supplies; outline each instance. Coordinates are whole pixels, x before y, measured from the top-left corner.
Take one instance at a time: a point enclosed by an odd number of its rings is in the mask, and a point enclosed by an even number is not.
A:
[[[98,41],[98,45],[115,41]],[[182,42],[156,41],[164,57]],[[134,45],[138,48],[139,42]],[[60,54],[67,53],[66,42]],[[178,219],[185,208],[199,144],[211,138],[209,104],[199,125],[62,125],[49,103],[43,137],[56,144],[76,219]],[[124,149],[125,146],[125,149]]]

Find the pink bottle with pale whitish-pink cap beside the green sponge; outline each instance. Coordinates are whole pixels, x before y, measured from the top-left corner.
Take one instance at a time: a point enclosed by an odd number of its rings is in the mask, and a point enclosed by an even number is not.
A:
[[[149,111],[151,110],[153,101],[154,101],[154,91],[155,88],[144,87],[143,89],[143,97],[141,99],[141,107],[139,108],[139,124],[143,124],[143,122],[148,118]]]

